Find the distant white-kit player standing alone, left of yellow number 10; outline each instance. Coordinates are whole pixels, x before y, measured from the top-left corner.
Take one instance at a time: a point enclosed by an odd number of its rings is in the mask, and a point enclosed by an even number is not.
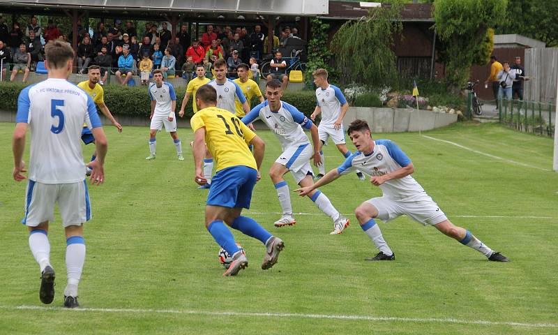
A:
[[[179,161],[184,161],[182,156],[182,143],[179,134],[176,133],[176,94],[174,87],[168,82],[163,82],[163,73],[161,70],[153,71],[153,79],[155,82],[149,85],[149,98],[151,98],[151,125],[149,126],[149,156],[145,159],[151,161],[156,158],[157,132],[165,125],[165,130],[170,133],[176,147],[176,156]]]

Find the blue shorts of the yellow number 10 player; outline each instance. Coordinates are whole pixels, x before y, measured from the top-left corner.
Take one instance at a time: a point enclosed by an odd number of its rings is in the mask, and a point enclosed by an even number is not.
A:
[[[232,166],[220,170],[211,179],[206,204],[250,209],[256,181],[257,171],[247,166]]]

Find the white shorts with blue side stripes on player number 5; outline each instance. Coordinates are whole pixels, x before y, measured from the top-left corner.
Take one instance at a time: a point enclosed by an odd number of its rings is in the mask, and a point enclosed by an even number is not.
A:
[[[58,202],[62,225],[81,225],[91,219],[91,203],[86,180],[71,184],[41,184],[29,180],[25,193],[24,225],[36,227],[54,221],[54,203]]]

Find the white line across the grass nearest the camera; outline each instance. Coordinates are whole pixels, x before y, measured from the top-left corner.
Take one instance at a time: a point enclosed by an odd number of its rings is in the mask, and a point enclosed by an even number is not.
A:
[[[383,322],[408,322],[408,323],[440,323],[462,325],[489,325],[511,326],[527,328],[558,328],[558,324],[545,322],[513,322],[489,320],[463,320],[454,318],[398,318],[393,316],[372,315],[336,315],[336,314],[306,314],[306,313],[255,313],[255,312],[230,312],[230,311],[195,311],[180,309],[142,309],[142,308],[63,308],[45,306],[0,306],[8,311],[68,311],[70,313],[98,312],[98,313],[134,313],[134,314],[183,314],[206,316],[239,316],[239,317],[264,317],[264,318],[299,318],[299,319],[325,319],[325,320],[357,320],[357,321],[383,321]]]

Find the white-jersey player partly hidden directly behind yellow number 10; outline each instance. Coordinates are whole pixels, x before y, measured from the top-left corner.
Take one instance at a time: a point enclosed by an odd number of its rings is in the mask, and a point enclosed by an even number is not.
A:
[[[217,91],[217,107],[223,108],[223,110],[228,110],[232,114],[236,114],[236,100],[240,101],[242,104],[242,109],[244,113],[248,114],[250,112],[250,106],[248,101],[246,101],[246,96],[242,93],[242,89],[236,82],[233,82],[227,78],[227,62],[225,59],[217,59],[213,63],[213,69],[215,70],[215,79],[208,83],[211,87]],[[204,175],[209,177],[213,172],[213,157],[211,152],[206,150],[204,158]],[[207,184],[199,186],[199,188],[209,188],[211,187],[211,178],[207,179]]]

